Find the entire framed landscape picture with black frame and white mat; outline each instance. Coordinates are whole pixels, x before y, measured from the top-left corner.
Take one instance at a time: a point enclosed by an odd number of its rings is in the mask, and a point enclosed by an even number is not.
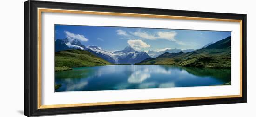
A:
[[[246,14],[24,3],[24,115],[246,102]]]

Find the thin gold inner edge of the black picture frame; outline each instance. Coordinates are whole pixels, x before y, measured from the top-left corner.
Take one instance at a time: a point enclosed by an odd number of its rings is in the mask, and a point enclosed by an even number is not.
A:
[[[50,13],[76,13],[76,14],[93,14],[93,15],[112,15],[112,16],[128,16],[128,17],[147,17],[147,18],[165,18],[165,19],[179,19],[179,20],[208,20],[208,21],[227,21],[240,23],[240,95],[227,96],[210,96],[210,97],[184,97],[184,98],[168,98],[168,99],[148,99],[148,100],[131,100],[131,101],[115,101],[115,102],[97,102],[97,103],[80,103],[80,104],[56,104],[56,105],[42,105],[41,104],[41,14],[42,12]],[[113,104],[135,104],[135,103],[153,103],[153,102],[171,102],[184,100],[202,100],[202,99],[220,99],[220,98],[234,98],[242,97],[242,20],[234,19],[218,19],[218,18],[202,18],[202,17],[186,17],[186,16],[170,16],[170,15],[153,15],[153,14],[137,14],[137,13],[116,13],[116,12],[96,12],[96,11],[78,11],[78,10],[64,10],[64,9],[37,9],[37,27],[38,27],[38,82],[37,82],[37,108],[65,108],[65,107],[81,107],[81,106],[96,106],[96,105],[113,105]]]

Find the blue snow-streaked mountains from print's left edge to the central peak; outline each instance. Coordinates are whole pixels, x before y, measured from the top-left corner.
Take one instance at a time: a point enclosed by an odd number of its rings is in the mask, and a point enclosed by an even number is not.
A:
[[[86,50],[113,64],[135,64],[146,58],[150,58],[146,52],[135,51],[130,46],[127,46],[121,51],[109,52],[94,45],[85,47],[80,41],[74,38],[55,40],[55,52],[70,49]]]

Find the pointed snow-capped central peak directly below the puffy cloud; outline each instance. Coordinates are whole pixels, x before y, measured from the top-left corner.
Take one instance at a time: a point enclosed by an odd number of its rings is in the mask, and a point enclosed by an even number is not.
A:
[[[114,53],[118,57],[120,64],[135,64],[146,58],[150,58],[146,52],[135,51],[131,46],[127,46],[123,50]]]

